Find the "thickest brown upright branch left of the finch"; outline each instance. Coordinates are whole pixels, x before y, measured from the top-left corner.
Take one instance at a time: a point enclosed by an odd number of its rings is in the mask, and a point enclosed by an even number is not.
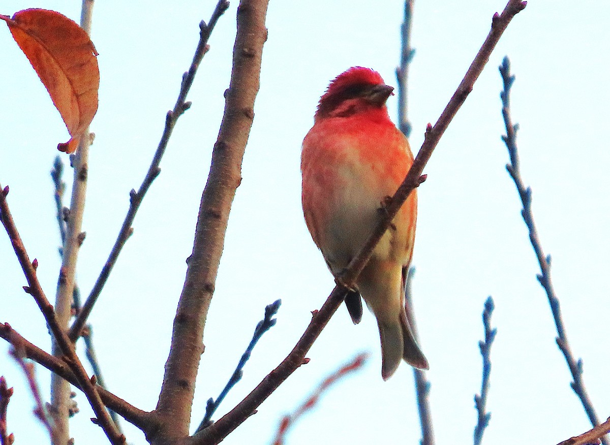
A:
[[[267,40],[267,4],[268,0],[242,0],[237,9],[231,84],[225,91],[223,121],[201,197],[193,252],[187,259],[187,274],[157,403],[157,413],[172,419],[172,427],[159,432],[160,441],[188,436],[195,379],[203,352],[201,339],[254,118],[262,48]]]

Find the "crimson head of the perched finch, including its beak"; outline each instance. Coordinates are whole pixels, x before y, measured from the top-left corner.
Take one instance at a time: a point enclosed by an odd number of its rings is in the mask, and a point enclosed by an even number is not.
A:
[[[332,80],[320,98],[315,119],[384,109],[393,90],[377,71],[354,66]]]

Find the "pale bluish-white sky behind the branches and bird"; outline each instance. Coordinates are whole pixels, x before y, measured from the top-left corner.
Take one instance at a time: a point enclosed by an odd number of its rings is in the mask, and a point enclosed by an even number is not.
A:
[[[78,281],[90,291],[157,147],[165,113],[173,107],[182,73],[198,40],[199,20],[215,1],[98,1],[92,39],[99,52],[99,110],[91,130],[87,239]],[[409,118],[415,152],[489,31],[504,0],[415,2],[412,44],[417,53],[409,81]],[[78,21],[79,1],[4,1],[0,13],[27,7],[53,9]],[[167,359],[185,258],[192,250],[201,191],[224,107],[231,72],[237,1],[221,18],[211,49],[154,182],[101,299],[91,316],[96,351],[113,393],[144,410],[156,405]],[[584,380],[603,420],[610,414],[606,282],[610,215],[606,174],[608,121],[607,20],[599,1],[532,0],[517,15],[489,65],[451,123],[425,169],[419,190],[414,265],[415,311],[430,362],[431,408],[437,443],[472,443],[473,395],[480,391],[481,311],[488,295],[498,334],[492,348],[484,443],[556,444],[589,429],[570,389],[570,374],[556,347],[547,297],[529,245],[520,202],[504,169],[508,153],[500,135],[501,79],[497,66],[511,57],[517,76],[512,115],[520,124],[522,174],[533,188],[533,211],[553,282]],[[330,79],[354,65],[369,66],[396,85],[403,2],[276,2],[269,6],[256,118],[246,147],[207,319],[193,425],[205,401],[217,397],[248,344],[265,305],[282,299],[278,323],[266,333],[245,375],[221,405],[218,419],[251,391],[292,349],[333,287],[331,274],[307,233],[300,202],[300,145]],[[45,88],[0,26],[0,183],[38,276],[54,296],[60,259],[52,183],[56,145],[68,140]],[[397,99],[389,99],[396,116]],[[63,156],[67,161],[67,157]],[[65,179],[71,183],[71,169]],[[70,191],[66,192],[69,200]],[[67,202],[67,201],[66,201]],[[0,233],[0,321],[49,350],[45,322],[21,287],[26,283],[9,240]],[[16,443],[46,443],[30,415],[33,406],[20,370],[0,349],[0,374],[15,386],[9,430]],[[279,418],[293,410],[326,376],[359,351],[370,351],[364,370],[329,391],[299,422],[291,445],[315,441],[417,444],[420,429],[412,372],[403,364],[381,380],[375,318],[358,326],[340,308],[298,369],[225,441],[269,444]],[[37,367],[48,393],[48,373]],[[71,421],[76,443],[104,444],[88,418],[87,401]],[[127,440],[145,438],[123,422]]]

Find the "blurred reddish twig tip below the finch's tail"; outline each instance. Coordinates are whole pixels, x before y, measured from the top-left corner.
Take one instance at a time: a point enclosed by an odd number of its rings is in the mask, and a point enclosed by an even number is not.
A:
[[[358,371],[364,366],[368,359],[366,352],[361,352],[356,355],[350,363],[341,366],[337,371],[333,372],[330,376],[326,377],[315,391],[310,394],[309,397],[301,404],[300,407],[296,408],[295,412],[291,415],[286,415],[279,422],[278,432],[276,433],[273,445],[284,445],[285,436],[292,426],[307,412],[315,408],[315,405],[320,401],[320,397],[323,396],[335,383],[345,378],[348,374],[354,371]]]

